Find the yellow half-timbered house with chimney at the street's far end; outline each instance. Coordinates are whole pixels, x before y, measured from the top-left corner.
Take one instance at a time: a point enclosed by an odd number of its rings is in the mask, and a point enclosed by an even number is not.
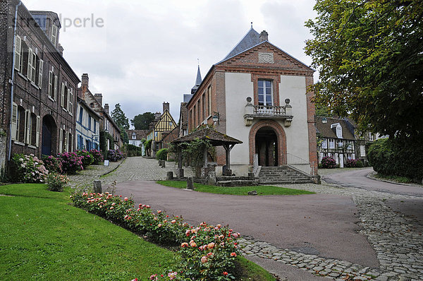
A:
[[[152,122],[151,128],[147,134],[147,140],[152,140],[152,156],[157,153],[157,151],[164,148],[163,146],[163,137],[164,132],[173,131],[173,128],[177,126],[175,120],[173,119],[171,112],[169,111],[169,103],[163,103],[163,113],[157,114],[156,119]]]

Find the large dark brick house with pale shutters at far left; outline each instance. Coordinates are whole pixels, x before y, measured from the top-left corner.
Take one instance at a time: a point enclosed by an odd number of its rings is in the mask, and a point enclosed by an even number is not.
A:
[[[56,13],[28,11],[22,2],[8,0],[1,1],[0,19],[3,169],[14,153],[73,150],[80,80],[63,59]]]

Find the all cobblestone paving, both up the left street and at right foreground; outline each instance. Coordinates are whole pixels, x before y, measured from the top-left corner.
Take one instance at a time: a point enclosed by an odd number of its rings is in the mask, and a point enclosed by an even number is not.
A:
[[[105,177],[99,177],[116,167],[118,167],[116,171]],[[111,163],[110,167],[97,166],[80,175],[71,176],[71,184],[75,187],[87,188],[92,186],[94,179],[101,179],[103,186],[110,186],[114,181],[119,183],[159,180],[166,179],[166,172],[174,172],[174,170],[173,162],[166,162],[166,168],[161,168],[157,165],[157,160],[131,157],[121,163]],[[190,171],[185,169],[185,173],[187,172]],[[344,188],[325,182],[321,185],[302,184],[283,185],[283,187],[352,197],[360,213],[359,225],[362,228],[360,233],[367,236],[376,251],[379,268],[363,267],[348,261],[321,258],[290,249],[278,249],[264,241],[244,237],[240,239],[240,248],[247,258],[258,257],[278,261],[333,280],[423,280],[422,225],[413,217],[391,210],[385,203],[389,199],[401,201],[415,199],[413,196],[367,191],[353,187]],[[283,276],[279,277],[281,280],[288,280]]]

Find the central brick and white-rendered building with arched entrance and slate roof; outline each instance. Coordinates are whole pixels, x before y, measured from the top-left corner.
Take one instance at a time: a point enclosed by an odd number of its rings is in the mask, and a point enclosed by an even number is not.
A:
[[[187,104],[188,131],[208,124],[242,140],[231,150],[231,169],[237,175],[290,164],[316,174],[314,93],[307,91],[313,73],[271,44],[266,31],[251,28],[196,83]],[[220,174],[225,164],[221,147],[216,148],[216,164]]]

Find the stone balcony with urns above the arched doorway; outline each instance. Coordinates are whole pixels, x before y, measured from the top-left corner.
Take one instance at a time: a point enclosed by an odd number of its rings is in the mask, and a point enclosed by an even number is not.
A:
[[[251,97],[247,97],[247,104],[245,105],[244,112],[245,126],[251,126],[254,119],[278,119],[283,120],[284,126],[289,127],[294,117],[289,102],[290,100],[286,99],[286,104],[283,107],[255,105],[251,103]]]

